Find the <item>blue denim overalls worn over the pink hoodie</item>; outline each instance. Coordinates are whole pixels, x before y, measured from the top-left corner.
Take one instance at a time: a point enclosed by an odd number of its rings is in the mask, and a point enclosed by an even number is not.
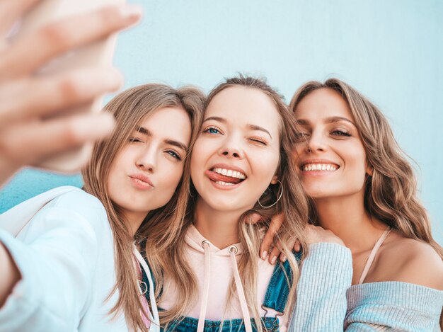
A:
[[[143,246],[144,248],[144,246]],[[142,255],[145,257],[144,253]],[[294,253],[295,258],[297,259],[297,262],[301,259],[301,253]],[[147,262],[146,262],[147,263]],[[272,273],[271,280],[269,282],[269,285],[267,285],[267,290],[265,294],[265,300],[263,301],[262,308],[270,308],[274,309],[275,311],[281,313],[277,314],[274,317],[268,317],[263,316],[262,317],[262,325],[263,330],[267,332],[277,332],[280,331],[279,326],[279,320],[278,316],[281,316],[284,314],[284,307],[286,306],[287,297],[289,294],[289,287],[287,285],[286,277],[283,273],[283,269],[286,271],[287,275],[289,276],[289,281],[292,281],[292,273],[291,269],[289,267],[288,261],[284,263],[277,263],[275,265],[274,273]],[[144,270],[142,270],[142,277],[143,282],[146,283],[146,285],[149,285],[149,282],[147,280],[146,274],[144,273]],[[155,283],[155,282],[154,282]],[[155,287],[155,285],[154,285]],[[148,297],[149,301],[149,292],[145,293],[145,297]],[[161,310],[161,309],[159,309]],[[179,320],[176,323],[171,323],[168,325],[168,329],[165,330],[164,326],[161,326],[162,332],[190,332],[190,331],[197,331],[197,324],[198,319],[192,318],[192,317],[183,317],[183,319]],[[220,325],[222,324],[222,321],[208,321],[205,320],[205,332],[219,332],[220,331]],[[251,324],[253,331],[257,331],[257,328],[255,326],[255,322],[253,319],[251,319]],[[231,319],[231,320],[225,320],[223,322],[223,328],[221,332],[244,332],[245,326],[243,324],[243,319]]]

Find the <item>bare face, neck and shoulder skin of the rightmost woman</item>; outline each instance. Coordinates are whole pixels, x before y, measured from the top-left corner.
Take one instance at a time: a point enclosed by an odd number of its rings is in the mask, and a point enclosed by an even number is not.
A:
[[[372,173],[349,105],[339,93],[321,88],[304,97],[295,116],[305,141],[296,146],[306,193],[316,202],[319,223],[343,240],[352,252],[352,285],[386,224],[364,209],[364,179]],[[308,163],[308,164],[306,164]],[[309,171],[309,164],[335,170]],[[422,273],[426,270],[427,273]],[[443,290],[443,263],[428,244],[391,231],[364,282],[401,281]]]

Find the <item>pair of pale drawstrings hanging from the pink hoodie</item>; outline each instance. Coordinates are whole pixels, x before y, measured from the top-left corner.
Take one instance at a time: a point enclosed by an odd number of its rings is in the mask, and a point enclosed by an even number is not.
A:
[[[205,329],[205,319],[207,311],[207,301],[209,297],[209,277],[211,275],[211,252],[209,251],[209,242],[202,241],[202,248],[205,249],[205,280],[203,283],[203,297],[202,305],[200,307],[200,315],[198,317],[197,332],[203,332]],[[234,272],[234,281],[236,283],[236,290],[238,299],[240,301],[241,313],[243,314],[243,321],[246,332],[252,332],[251,316],[249,316],[248,304],[246,303],[245,292],[243,285],[241,285],[240,274],[238,273],[236,253],[238,248],[236,246],[229,247],[229,256],[231,256],[231,265]]]

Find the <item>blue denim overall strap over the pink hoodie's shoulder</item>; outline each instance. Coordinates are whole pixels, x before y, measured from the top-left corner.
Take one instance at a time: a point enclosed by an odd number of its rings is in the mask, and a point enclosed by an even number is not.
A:
[[[299,263],[301,260],[301,252],[295,253],[293,251],[293,253],[297,263]],[[284,307],[286,307],[287,297],[289,295],[287,277],[292,284],[292,270],[289,262],[277,263],[269,285],[267,285],[265,301],[263,301],[262,304],[263,309],[270,308],[284,314]]]

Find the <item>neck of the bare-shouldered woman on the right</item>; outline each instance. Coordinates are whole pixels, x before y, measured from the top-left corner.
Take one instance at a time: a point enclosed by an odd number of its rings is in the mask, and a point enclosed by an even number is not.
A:
[[[340,237],[352,253],[367,251],[386,229],[386,224],[369,216],[362,195],[316,200],[318,222]]]

